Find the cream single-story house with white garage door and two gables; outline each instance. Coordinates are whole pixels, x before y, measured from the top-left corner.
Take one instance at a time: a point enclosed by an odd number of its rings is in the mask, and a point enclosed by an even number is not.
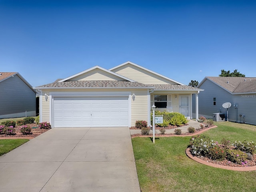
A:
[[[52,127],[150,125],[153,105],[192,118],[192,94],[202,91],[132,62],[109,70],[94,66],[34,89],[40,92],[40,122]]]

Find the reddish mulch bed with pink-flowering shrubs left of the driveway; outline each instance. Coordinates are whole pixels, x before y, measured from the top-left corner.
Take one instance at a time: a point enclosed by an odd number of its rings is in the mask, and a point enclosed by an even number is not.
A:
[[[31,128],[32,127],[38,127],[38,125],[36,123],[33,124],[28,124]],[[35,138],[36,136],[48,131],[49,129],[40,129],[40,128],[32,128],[31,132],[32,134],[27,134],[24,135],[20,132],[20,128],[21,126],[16,126],[15,130],[16,130],[16,134],[15,135],[5,135],[5,134],[0,134],[0,138],[5,137],[5,138],[12,138],[12,137],[32,137]]]

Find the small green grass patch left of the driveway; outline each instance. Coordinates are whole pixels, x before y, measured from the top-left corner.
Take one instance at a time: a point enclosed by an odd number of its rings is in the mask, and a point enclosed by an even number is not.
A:
[[[0,156],[28,141],[29,139],[0,139]]]

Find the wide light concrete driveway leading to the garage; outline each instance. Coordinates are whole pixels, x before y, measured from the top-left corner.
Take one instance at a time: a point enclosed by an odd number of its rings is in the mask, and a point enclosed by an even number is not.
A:
[[[53,128],[0,157],[4,192],[140,192],[129,128]]]

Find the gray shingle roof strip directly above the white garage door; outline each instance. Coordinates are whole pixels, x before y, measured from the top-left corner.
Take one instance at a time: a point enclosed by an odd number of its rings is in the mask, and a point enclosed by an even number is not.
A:
[[[126,87],[150,87],[138,82],[130,81],[64,81],[53,82],[38,86],[41,88],[126,88]]]

